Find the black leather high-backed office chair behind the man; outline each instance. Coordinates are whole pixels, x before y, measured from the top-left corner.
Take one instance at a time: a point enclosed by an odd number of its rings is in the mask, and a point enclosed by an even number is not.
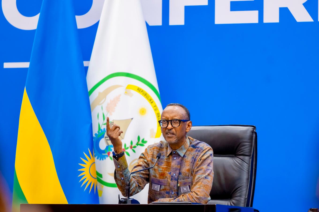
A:
[[[208,204],[252,207],[257,133],[251,125],[193,126],[187,133],[214,151],[214,179]]]

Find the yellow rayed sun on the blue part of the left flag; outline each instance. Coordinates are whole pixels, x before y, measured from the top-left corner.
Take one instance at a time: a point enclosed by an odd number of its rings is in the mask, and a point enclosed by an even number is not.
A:
[[[86,160],[83,158],[81,158],[81,159],[85,164],[79,163],[80,166],[84,167],[84,168],[78,169],[78,171],[82,171],[82,173],[80,173],[79,176],[83,176],[79,182],[84,180],[81,187],[86,183],[84,190],[86,190],[86,188],[91,184],[89,193],[91,193],[91,190],[94,186],[94,194],[95,194],[95,190],[96,190],[96,186],[97,186],[95,160],[94,160],[93,155],[91,154],[90,149],[88,149],[88,150],[89,150],[90,157],[87,156],[85,154],[85,152],[83,152]],[[93,151],[93,154],[94,154],[94,151]]]

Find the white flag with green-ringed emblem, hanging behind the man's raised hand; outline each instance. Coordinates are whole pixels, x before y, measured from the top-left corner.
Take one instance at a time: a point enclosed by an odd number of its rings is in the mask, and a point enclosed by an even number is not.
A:
[[[105,0],[86,79],[100,203],[117,204],[121,192],[114,180],[106,117],[123,131],[130,170],[147,145],[163,140],[158,123],[162,105],[140,0]],[[147,193],[148,185],[132,198],[147,204]]]

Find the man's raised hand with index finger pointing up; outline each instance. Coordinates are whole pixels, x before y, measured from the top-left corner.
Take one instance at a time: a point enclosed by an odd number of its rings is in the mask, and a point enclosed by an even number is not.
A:
[[[116,124],[113,124],[111,128],[108,117],[106,117],[106,132],[107,132],[108,138],[111,140],[114,151],[117,154],[121,153],[123,151],[123,148],[122,148],[122,141],[119,138],[119,136],[121,135],[121,133],[123,133],[123,131],[120,129],[120,126]]]

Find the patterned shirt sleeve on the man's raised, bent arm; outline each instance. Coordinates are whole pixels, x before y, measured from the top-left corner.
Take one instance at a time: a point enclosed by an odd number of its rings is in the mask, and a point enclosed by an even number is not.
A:
[[[146,149],[145,149],[146,151]],[[145,151],[139,156],[137,165],[133,167],[131,172],[148,168],[149,164],[145,157]],[[129,180],[130,170],[127,165],[125,155],[118,160],[113,159],[115,165],[114,180],[123,196],[126,196],[126,182]],[[130,196],[142,191],[149,182],[149,170],[131,174],[130,176]]]

